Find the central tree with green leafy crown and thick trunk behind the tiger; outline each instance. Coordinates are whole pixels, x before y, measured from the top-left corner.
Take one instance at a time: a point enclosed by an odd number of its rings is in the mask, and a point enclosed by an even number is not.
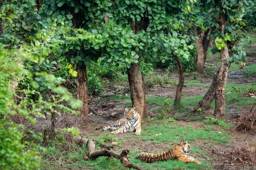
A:
[[[190,11],[190,6],[194,1],[115,1],[114,14],[116,23],[126,28],[131,27],[133,35],[121,38],[120,44],[116,45],[120,51],[123,51],[123,45],[130,47],[134,52],[134,61],[125,61],[127,64],[127,74],[131,90],[132,104],[137,111],[145,118],[149,116],[149,110],[146,103],[146,86],[143,76],[140,73],[140,61],[143,55],[150,55],[153,58],[158,53],[173,53],[175,55],[187,58],[189,56],[187,46],[189,38],[186,35],[179,34],[175,29],[184,30],[183,19],[187,15],[184,9]],[[189,10],[188,10],[189,9]],[[171,34],[172,33],[172,34]],[[126,43],[132,42],[132,46]],[[137,44],[139,42],[139,44]],[[126,58],[126,52],[119,60]],[[123,55],[121,54],[121,55]],[[136,54],[136,55],[135,55]],[[103,58],[104,62],[112,62],[112,56]],[[110,59],[110,60],[109,60]],[[116,62],[116,60],[114,60]],[[115,63],[114,63],[115,64]]]

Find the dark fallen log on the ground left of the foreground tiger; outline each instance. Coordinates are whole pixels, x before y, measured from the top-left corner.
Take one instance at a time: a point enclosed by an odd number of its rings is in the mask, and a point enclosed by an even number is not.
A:
[[[106,148],[105,150],[96,151],[95,152],[95,145],[96,141],[94,139],[88,140],[88,149],[89,149],[89,159],[95,160],[100,156],[107,156],[107,157],[114,157],[116,159],[120,159],[121,163],[129,168],[134,168],[138,170],[146,170],[132,162],[130,162],[127,158],[127,154],[130,152],[129,149],[124,149],[121,154],[116,153],[111,148]],[[86,155],[84,155],[84,158],[88,158]]]

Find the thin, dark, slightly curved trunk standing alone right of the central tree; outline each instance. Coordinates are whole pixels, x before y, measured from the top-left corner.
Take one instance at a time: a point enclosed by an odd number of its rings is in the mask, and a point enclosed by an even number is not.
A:
[[[183,69],[182,69],[182,64],[180,61],[180,58],[177,55],[174,55],[175,60],[177,61],[177,66],[178,66],[178,70],[179,70],[179,83],[176,89],[176,95],[175,95],[175,100],[174,100],[174,105],[177,105],[180,103],[180,98],[181,98],[181,91],[183,88],[183,84],[184,84],[184,73],[183,73]]]

